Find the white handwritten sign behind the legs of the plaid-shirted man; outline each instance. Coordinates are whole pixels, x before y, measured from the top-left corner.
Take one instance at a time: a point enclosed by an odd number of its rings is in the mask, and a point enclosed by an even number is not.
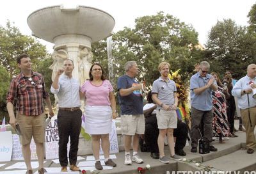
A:
[[[21,145],[20,145],[20,138],[17,134],[12,135],[12,142],[13,142],[12,161],[23,160],[23,155],[22,155]],[[30,149],[31,149],[31,159],[37,159],[36,144],[33,138],[31,139]]]

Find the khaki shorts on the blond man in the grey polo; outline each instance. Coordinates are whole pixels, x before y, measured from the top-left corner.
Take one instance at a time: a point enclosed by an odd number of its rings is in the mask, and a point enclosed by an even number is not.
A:
[[[177,128],[177,115],[175,110],[165,111],[164,109],[157,109],[156,119],[158,129]]]

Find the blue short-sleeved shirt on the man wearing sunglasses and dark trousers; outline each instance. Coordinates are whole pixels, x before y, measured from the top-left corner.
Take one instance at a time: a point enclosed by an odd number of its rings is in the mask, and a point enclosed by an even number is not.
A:
[[[193,91],[196,88],[205,86],[209,79],[213,78],[211,74],[206,74],[205,77],[201,77],[200,73],[197,72],[190,79],[190,96],[191,96],[191,107],[200,111],[211,111],[212,109],[212,88],[207,88],[199,95],[196,95]],[[214,82],[216,84],[216,82]]]

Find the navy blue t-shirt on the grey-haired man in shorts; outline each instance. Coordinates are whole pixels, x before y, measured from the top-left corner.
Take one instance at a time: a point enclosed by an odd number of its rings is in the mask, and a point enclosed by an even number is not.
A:
[[[117,89],[131,88],[138,85],[138,81],[128,75],[123,75],[117,80]],[[143,98],[140,90],[134,90],[127,96],[119,95],[121,115],[142,115],[143,114]]]

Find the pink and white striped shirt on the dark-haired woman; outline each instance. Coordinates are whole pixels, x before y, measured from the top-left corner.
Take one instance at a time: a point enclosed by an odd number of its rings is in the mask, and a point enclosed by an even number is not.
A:
[[[113,87],[108,80],[104,80],[100,86],[94,86],[91,81],[85,81],[81,92],[85,93],[86,105],[110,106],[109,93]]]

